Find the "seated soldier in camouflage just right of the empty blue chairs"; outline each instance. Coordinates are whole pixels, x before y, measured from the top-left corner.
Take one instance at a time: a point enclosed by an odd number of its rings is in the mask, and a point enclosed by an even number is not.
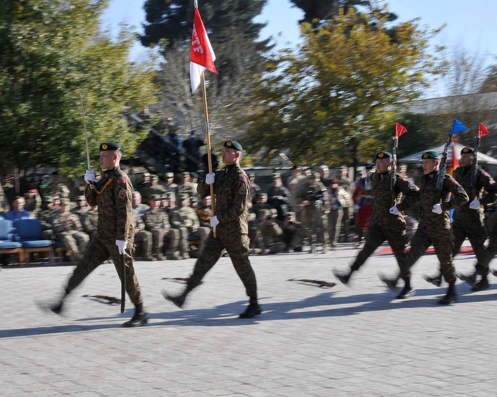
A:
[[[90,238],[86,233],[79,231],[82,229],[80,219],[70,211],[70,205],[69,199],[61,199],[61,209],[56,211],[50,223],[55,239],[62,242],[69,251],[73,265],[78,265]]]

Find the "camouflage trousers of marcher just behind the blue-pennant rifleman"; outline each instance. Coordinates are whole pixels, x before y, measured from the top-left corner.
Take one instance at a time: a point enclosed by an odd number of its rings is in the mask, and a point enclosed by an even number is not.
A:
[[[459,253],[461,245],[467,237],[478,261],[476,271],[479,274],[488,274],[490,261],[487,259],[488,252],[485,249],[487,229],[483,221],[479,217],[466,219],[465,221],[454,219],[452,222],[452,233],[454,234],[452,256],[455,257]]]

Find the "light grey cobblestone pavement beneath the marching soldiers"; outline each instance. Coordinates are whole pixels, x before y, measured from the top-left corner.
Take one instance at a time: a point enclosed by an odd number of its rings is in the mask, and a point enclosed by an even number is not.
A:
[[[179,310],[161,289],[180,291],[194,260],[136,262],[149,324],[124,329],[133,315],[83,295],[119,297],[113,265],[98,267],[74,291],[65,317],[35,302],[60,295],[73,266],[3,267],[1,396],[497,396],[497,279],[459,303],[439,306],[446,284],[434,255],[415,266],[414,297],[397,301],[377,277],[395,259],[376,255],[350,287],[320,288],[288,279],[337,282],[357,251],[250,257],[263,314],[241,320],[247,304],[229,258],[221,258]],[[469,273],[474,256],[459,256]],[[491,264],[495,265],[495,263]]]

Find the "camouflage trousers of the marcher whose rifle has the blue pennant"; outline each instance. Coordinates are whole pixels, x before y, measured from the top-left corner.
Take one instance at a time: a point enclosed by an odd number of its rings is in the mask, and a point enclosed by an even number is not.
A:
[[[449,284],[455,282],[456,272],[454,269],[452,250],[454,249],[454,238],[451,229],[431,227],[417,228],[411,240],[411,250],[400,261],[402,278],[411,278],[411,267],[421,258],[429,246],[433,245],[435,254],[440,262],[440,270]]]

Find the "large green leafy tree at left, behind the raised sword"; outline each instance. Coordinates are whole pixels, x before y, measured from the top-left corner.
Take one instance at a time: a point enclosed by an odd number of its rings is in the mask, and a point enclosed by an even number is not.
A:
[[[84,100],[92,166],[98,143],[116,140],[131,154],[143,133],[125,112],[155,102],[153,68],[128,61],[135,36],[99,31],[108,0],[4,1],[0,16],[0,155],[3,166],[56,165],[82,174]]]

